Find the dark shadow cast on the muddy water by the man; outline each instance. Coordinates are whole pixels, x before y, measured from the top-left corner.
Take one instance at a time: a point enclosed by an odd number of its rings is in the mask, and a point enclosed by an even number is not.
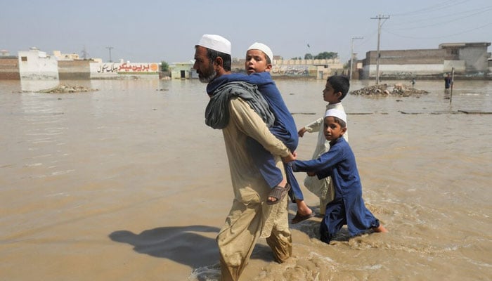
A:
[[[214,238],[200,233],[219,233],[212,226],[169,226],[144,230],[140,234],[117,230],[109,235],[116,242],[131,244],[134,251],[198,268],[219,261],[219,249]],[[271,249],[262,244],[254,247],[251,259],[273,261]]]

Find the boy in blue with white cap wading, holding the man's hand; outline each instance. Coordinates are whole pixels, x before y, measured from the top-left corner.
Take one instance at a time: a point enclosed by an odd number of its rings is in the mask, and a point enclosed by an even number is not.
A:
[[[347,115],[341,110],[328,110],[324,119],[324,132],[330,141],[330,150],[318,159],[292,162],[294,171],[306,171],[308,176],[332,177],[335,199],[326,206],[321,221],[321,241],[330,243],[342,226],[347,225],[351,236],[368,230],[387,233],[386,228],[365,207],[362,185],[356,166],[356,158],[349,143],[342,138],[347,131]]]

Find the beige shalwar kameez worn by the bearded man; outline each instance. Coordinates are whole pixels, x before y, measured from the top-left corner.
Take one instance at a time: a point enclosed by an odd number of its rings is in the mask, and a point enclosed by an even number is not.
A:
[[[256,139],[272,155],[290,155],[273,136],[263,120],[241,98],[229,102],[230,119],[224,142],[231,171],[234,200],[226,224],[217,236],[221,261],[221,280],[238,280],[252,254],[258,237],[266,237],[276,261],[292,255],[292,237],[287,218],[287,196],[278,204],[266,204],[270,188],[264,181],[246,147],[248,136]],[[280,157],[275,157],[283,171]],[[285,176],[285,175],[284,175]]]

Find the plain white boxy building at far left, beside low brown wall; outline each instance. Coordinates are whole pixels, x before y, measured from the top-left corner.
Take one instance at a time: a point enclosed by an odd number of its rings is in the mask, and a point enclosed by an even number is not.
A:
[[[20,79],[58,79],[58,61],[37,48],[19,51]]]

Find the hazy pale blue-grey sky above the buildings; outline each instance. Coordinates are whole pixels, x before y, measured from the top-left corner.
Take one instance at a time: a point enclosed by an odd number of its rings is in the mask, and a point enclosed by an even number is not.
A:
[[[327,51],[345,63],[351,50],[377,50],[378,22],[380,50],[492,42],[492,1],[0,0],[0,50],[171,64],[193,60],[202,34],[219,34],[233,58],[257,41],[284,59]]]

